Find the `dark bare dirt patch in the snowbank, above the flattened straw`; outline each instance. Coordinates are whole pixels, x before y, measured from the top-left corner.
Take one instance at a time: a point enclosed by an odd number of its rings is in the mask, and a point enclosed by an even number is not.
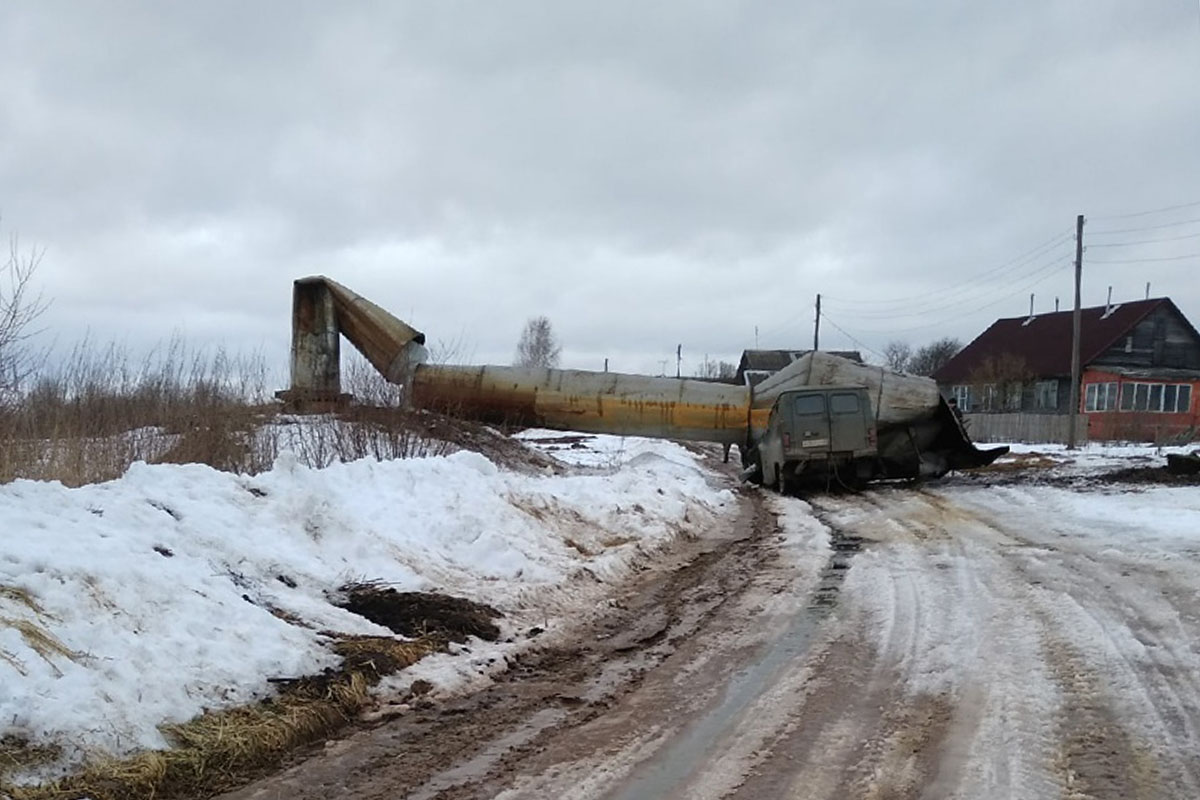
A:
[[[373,583],[342,587],[344,599],[337,604],[376,625],[408,637],[430,637],[466,642],[478,636],[494,642],[500,628],[492,620],[503,616],[491,606],[463,597],[430,591],[396,591]]]

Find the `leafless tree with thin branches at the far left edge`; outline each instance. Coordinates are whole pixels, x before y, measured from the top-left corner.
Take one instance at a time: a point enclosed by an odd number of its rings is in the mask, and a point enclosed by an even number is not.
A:
[[[42,263],[41,249],[20,253],[17,236],[8,240],[8,259],[0,266],[0,391],[18,386],[36,366],[29,339],[49,301],[36,290],[34,276]]]

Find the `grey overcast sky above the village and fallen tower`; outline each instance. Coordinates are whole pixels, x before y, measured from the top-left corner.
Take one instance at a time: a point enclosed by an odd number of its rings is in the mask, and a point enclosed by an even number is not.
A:
[[[0,5],[60,347],[283,363],[317,272],[470,362],[545,314],[563,366],[690,372],[810,347],[817,293],[823,348],[968,341],[1067,307],[1076,213],[1085,305],[1200,324],[1200,204],[1122,217],[1196,201],[1196,0]]]

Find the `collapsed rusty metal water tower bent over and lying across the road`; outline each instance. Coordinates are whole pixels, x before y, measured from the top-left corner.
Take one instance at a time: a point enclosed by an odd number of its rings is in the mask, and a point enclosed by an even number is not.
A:
[[[409,408],[485,422],[713,441],[752,459],[780,392],[860,385],[871,395],[878,437],[876,475],[916,477],[991,463],[1007,447],[979,450],[929,378],[810,353],[751,389],[686,378],[580,369],[428,363],[425,335],[323,276],[293,289],[292,386],[296,408],[335,404],[344,336]]]

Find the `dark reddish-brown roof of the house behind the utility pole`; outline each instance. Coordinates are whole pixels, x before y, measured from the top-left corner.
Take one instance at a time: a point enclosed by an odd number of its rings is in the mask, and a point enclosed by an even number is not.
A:
[[[1160,306],[1170,307],[1187,323],[1187,318],[1169,297],[1116,303],[1111,309],[1106,306],[1084,308],[1080,314],[1080,366],[1097,359]],[[1070,375],[1073,313],[1058,311],[1036,314],[1032,321],[1028,317],[997,319],[935,372],[934,378],[941,384],[960,383],[967,380],[988,359],[1003,355],[1024,359],[1030,372],[1039,378]]]

